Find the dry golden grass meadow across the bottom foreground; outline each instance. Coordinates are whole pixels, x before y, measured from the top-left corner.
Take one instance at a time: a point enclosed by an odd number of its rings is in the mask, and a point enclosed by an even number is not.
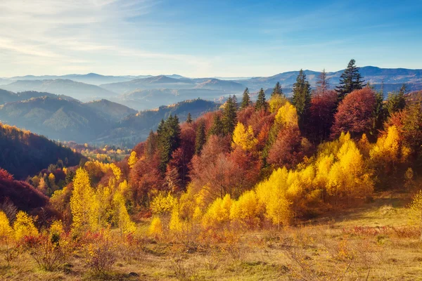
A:
[[[117,255],[105,275],[92,275],[77,254],[47,272],[23,253],[10,266],[0,261],[0,279],[422,280],[422,244],[407,226],[402,196],[383,193],[347,213],[279,232],[240,233],[224,243],[143,241],[130,259]]]

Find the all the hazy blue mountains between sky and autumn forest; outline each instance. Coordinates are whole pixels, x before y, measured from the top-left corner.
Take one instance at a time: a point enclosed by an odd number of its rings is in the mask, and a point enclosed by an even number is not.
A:
[[[376,89],[384,81],[387,92],[398,91],[402,84],[407,84],[409,91],[422,90],[422,70],[368,66],[360,72]],[[0,122],[63,141],[137,143],[169,112],[177,112],[181,119],[188,111],[203,113],[229,95],[236,94],[240,99],[246,87],[254,99],[260,88],[269,95],[280,82],[289,96],[298,73],[247,79],[94,73],[3,78],[0,84],[8,84],[0,86]],[[305,70],[311,86],[315,86],[319,73]],[[328,72],[332,87],[338,84],[342,73],[343,70]]]

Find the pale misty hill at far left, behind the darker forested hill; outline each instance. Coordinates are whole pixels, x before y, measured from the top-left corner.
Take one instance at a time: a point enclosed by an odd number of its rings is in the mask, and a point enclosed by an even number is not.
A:
[[[3,85],[1,88],[14,92],[45,91],[58,95],[71,96],[72,98],[84,101],[115,96],[115,93],[101,87],[69,79],[19,80]]]

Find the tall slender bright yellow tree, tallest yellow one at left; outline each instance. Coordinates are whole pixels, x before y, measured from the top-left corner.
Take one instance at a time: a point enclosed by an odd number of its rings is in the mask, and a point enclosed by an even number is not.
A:
[[[72,197],[70,197],[72,210],[72,230],[80,231],[98,229],[99,204],[89,181],[85,169],[79,168],[73,179]]]

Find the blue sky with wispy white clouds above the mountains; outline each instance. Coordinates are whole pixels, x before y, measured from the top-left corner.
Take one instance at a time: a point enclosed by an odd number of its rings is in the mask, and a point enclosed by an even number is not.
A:
[[[422,68],[422,0],[1,0],[0,77]]]

